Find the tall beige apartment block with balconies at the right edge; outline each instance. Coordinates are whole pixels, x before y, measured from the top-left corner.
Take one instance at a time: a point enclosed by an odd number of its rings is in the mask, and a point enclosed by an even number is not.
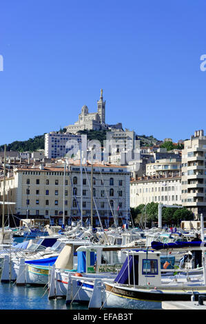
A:
[[[198,130],[184,142],[182,152],[182,203],[194,216],[206,216],[206,136]]]

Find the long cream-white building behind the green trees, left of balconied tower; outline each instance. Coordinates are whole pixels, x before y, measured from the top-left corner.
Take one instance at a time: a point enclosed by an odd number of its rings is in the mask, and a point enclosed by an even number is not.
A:
[[[181,205],[181,176],[145,176],[130,181],[130,207],[152,201]]]

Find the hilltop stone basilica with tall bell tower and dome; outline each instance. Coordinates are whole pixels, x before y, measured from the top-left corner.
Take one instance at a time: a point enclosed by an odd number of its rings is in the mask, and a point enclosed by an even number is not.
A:
[[[105,101],[103,101],[103,90],[99,101],[97,101],[97,112],[89,112],[87,105],[81,108],[79,120],[74,125],[65,126],[66,131],[76,134],[79,130],[122,130],[122,124],[108,125],[105,123]]]

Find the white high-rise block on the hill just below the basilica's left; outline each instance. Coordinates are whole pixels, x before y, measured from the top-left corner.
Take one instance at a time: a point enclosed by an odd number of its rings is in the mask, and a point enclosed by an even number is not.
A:
[[[82,145],[86,145],[87,135],[75,135],[68,132],[50,132],[45,134],[45,157],[56,159],[65,156],[72,149],[72,140],[82,141]]]

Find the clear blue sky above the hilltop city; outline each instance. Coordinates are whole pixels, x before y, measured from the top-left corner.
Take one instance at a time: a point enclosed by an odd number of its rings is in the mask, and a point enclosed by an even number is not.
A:
[[[205,128],[205,0],[5,0],[0,8],[1,141],[96,111],[136,134]]]

